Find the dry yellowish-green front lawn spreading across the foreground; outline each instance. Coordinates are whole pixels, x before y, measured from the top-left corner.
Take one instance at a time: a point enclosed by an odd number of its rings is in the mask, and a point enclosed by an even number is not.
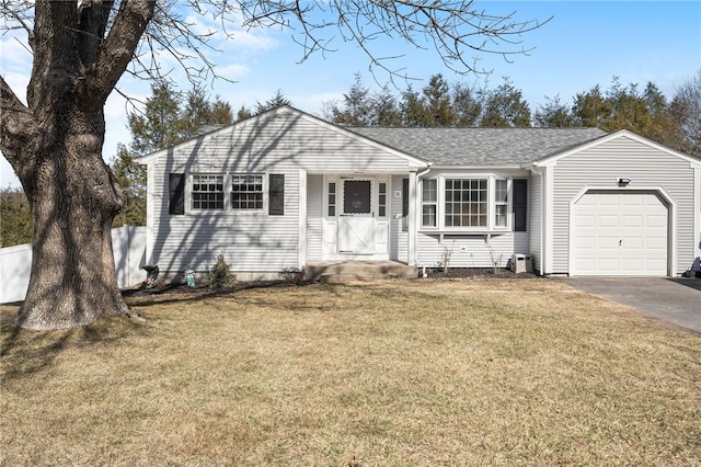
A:
[[[549,281],[133,299],[2,318],[2,465],[699,465],[701,339]]]

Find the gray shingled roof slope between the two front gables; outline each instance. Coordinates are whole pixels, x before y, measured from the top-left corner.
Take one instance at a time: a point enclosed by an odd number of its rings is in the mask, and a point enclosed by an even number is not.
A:
[[[598,128],[347,129],[434,167],[524,167],[606,135]]]

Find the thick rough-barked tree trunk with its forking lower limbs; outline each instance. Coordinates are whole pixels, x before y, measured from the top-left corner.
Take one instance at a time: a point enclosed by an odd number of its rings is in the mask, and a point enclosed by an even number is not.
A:
[[[22,328],[77,328],[127,310],[111,234],[124,200],[102,160],[104,105],[156,0],[117,4],[34,2],[26,104],[0,76],[0,148],[32,209],[32,276],[15,317]]]

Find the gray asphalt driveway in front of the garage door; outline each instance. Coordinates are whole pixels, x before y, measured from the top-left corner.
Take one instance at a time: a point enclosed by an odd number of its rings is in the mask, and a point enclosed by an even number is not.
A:
[[[559,281],[701,333],[701,278],[566,277]]]

